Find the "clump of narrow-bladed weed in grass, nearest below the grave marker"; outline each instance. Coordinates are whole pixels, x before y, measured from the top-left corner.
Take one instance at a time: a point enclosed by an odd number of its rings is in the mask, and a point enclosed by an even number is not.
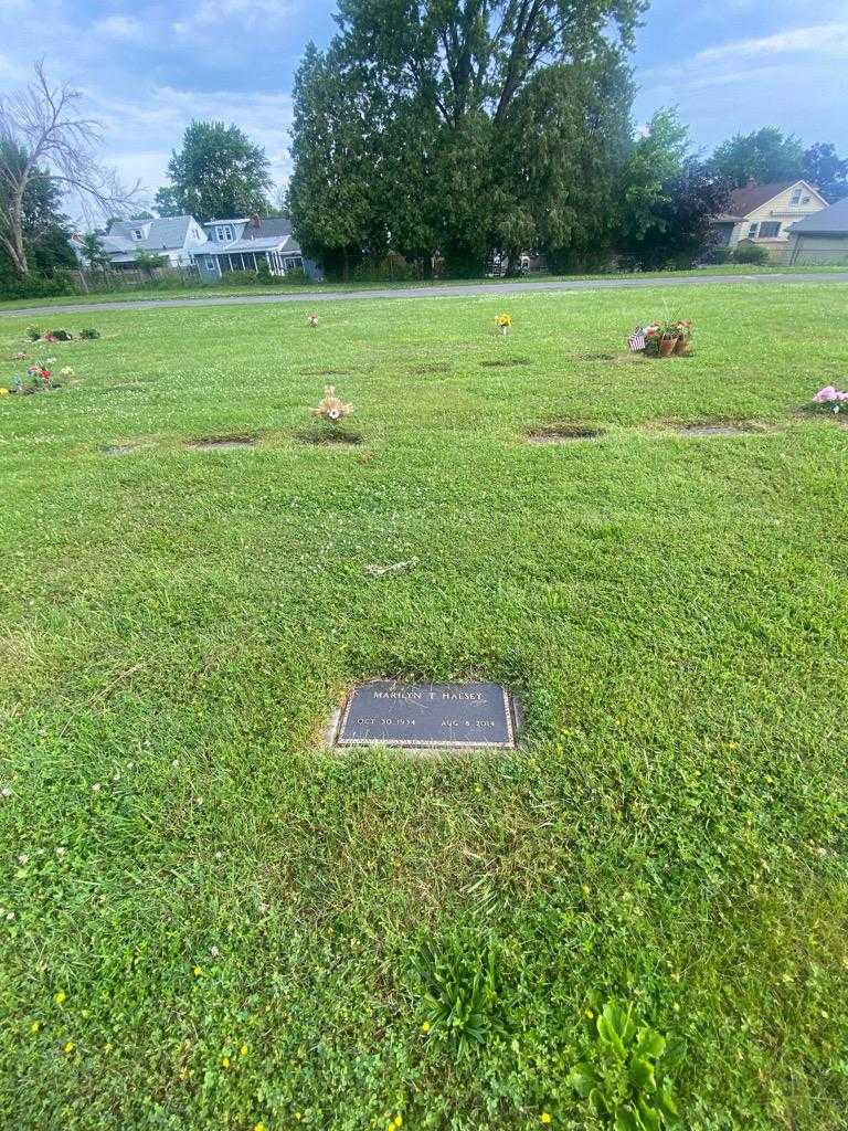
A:
[[[497,962],[491,939],[468,932],[439,944],[426,942],[413,960],[422,1028],[431,1038],[451,1044],[460,1056],[503,1031]]]

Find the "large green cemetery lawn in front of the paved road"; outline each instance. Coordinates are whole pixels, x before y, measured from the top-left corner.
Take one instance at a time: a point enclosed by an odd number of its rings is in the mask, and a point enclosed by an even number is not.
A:
[[[798,408],[846,300],[66,317],[72,383],[0,398],[0,1124],[599,1128],[597,995],[674,1038],[684,1126],[843,1125],[848,431]],[[695,356],[628,355],[666,313]],[[298,439],[325,381],[356,448]],[[321,750],[377,675],[503,682],[523,746]]]

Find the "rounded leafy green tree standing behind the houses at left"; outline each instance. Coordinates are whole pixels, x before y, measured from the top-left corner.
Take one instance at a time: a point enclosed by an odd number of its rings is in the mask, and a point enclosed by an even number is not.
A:
[[[171,184],[156,193],[162,216],[263,216],[272,187],[268,158],[237,126],[192,122],[167,165]]]

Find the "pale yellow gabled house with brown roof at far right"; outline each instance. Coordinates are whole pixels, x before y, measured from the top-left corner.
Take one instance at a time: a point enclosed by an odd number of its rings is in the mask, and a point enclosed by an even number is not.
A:
[[[735,248],[741,241],[764,247],[781,260],[789,248],[789,232],[828,201],[806,181],[754,184],[735,189],[729,210],[712,222],[716,247]]]

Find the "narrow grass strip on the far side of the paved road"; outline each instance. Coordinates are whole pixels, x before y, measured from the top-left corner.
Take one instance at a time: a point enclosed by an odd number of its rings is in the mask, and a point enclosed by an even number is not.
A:
[[[699,267],[696,270],[684,271],[607,271],[603,275],[530,275],[529,282],[545,282],[548,279],[643,279],[643,278],[675,278],[686,275],[797,275],[797,274],[820,274],[839,273],[848,270],[848,265],[802,265],[797,267],[785,267],[779,264],[756,266],[751,264],[721,264],[715,267]],[[262,288],[261,286],[232,286],[222,283],[219,285],[208,284],[183,287],[127,287],[123,291],[92,291],[89,294],[61,295],[54,299],[0,299],[0,310],[26,310],[33,307],[67,307],[72,303],[86,304],[92,302],[138,302],[150,299],[206,299],[206,297],[234,297],[250,294],[297,294],[309,292],[334,291],[375,291],[397,290],[403,287],[421,287],[427,290],[432,286],[467,286],[469,283],[487,283],[491,286],[499,286],[502,283],[514,283],[512,278],[481,278],[481,279],[438,279],[438,280],[406,280],[401,283],[292,283],[279,284]]]

